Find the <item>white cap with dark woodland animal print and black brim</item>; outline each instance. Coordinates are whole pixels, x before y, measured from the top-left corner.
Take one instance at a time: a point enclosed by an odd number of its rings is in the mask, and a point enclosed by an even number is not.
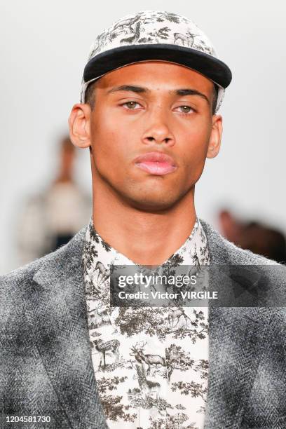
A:
[[[217,112],[231,83],[231,70],[219,60],[214,46],[193,21],[159,11],[127,15],[97,36],[83,71],[81,102],[88,85],[104,74],[151,60],[184,65],[214,82],[218,87]]]

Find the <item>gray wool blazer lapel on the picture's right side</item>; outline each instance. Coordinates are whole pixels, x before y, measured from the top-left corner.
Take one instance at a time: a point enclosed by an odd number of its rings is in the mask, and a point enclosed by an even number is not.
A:
[[[200,220],[210,247],[210,264],[238,264],[231,261],[233,247]],[[232,245],[231,245],[232,246]],[[224,275],[210,271],[212,290]],[[217,288],[219,290],[219,287]],[[259,345],[266,325],[259,308],[210,307],[209,381],[205,429],[240,428],[259,365]],[[263,317],[263,315],[262,315]]]

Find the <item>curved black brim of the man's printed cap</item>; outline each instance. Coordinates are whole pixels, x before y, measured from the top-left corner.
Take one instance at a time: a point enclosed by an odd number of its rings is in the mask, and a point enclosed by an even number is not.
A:
[[[231,83],[229,67],[212,55],[193,48],[167,43],[119,46],[91,58],[83,71],[85,82],[125,65],[148,60],[162,60],[182,64],[206,76],[222,88]]]

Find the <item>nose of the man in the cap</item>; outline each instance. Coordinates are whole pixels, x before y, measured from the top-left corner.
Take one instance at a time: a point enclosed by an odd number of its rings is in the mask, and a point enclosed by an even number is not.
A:
[[[166,144],[172,147],[175,144],[175,136],[168,124],[168,115],[164,114],[161,107],[152,109],[147,119],[147,128],[142,135],[144,144]]]

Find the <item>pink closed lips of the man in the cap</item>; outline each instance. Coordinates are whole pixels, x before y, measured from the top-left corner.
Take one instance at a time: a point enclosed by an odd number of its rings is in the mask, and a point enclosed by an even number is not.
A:
[[[151,175],[168,175],[177,170],[177,165],[172,156],[162,152],[148,152],[135,158],[135,165]]]

